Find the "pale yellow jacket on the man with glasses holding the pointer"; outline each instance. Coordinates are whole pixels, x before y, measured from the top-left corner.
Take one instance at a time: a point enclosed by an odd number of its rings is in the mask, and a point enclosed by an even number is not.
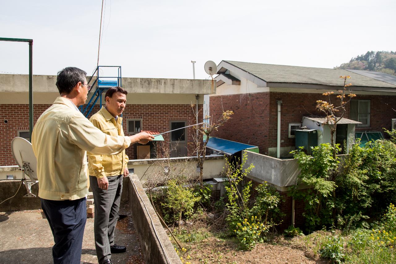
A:
[[[32,132],[38,196],[55,201],[86,197],[86,151],[117,154],[130,144],[129,137],[104,134],[69,99],[58,97],[39,117]]]

